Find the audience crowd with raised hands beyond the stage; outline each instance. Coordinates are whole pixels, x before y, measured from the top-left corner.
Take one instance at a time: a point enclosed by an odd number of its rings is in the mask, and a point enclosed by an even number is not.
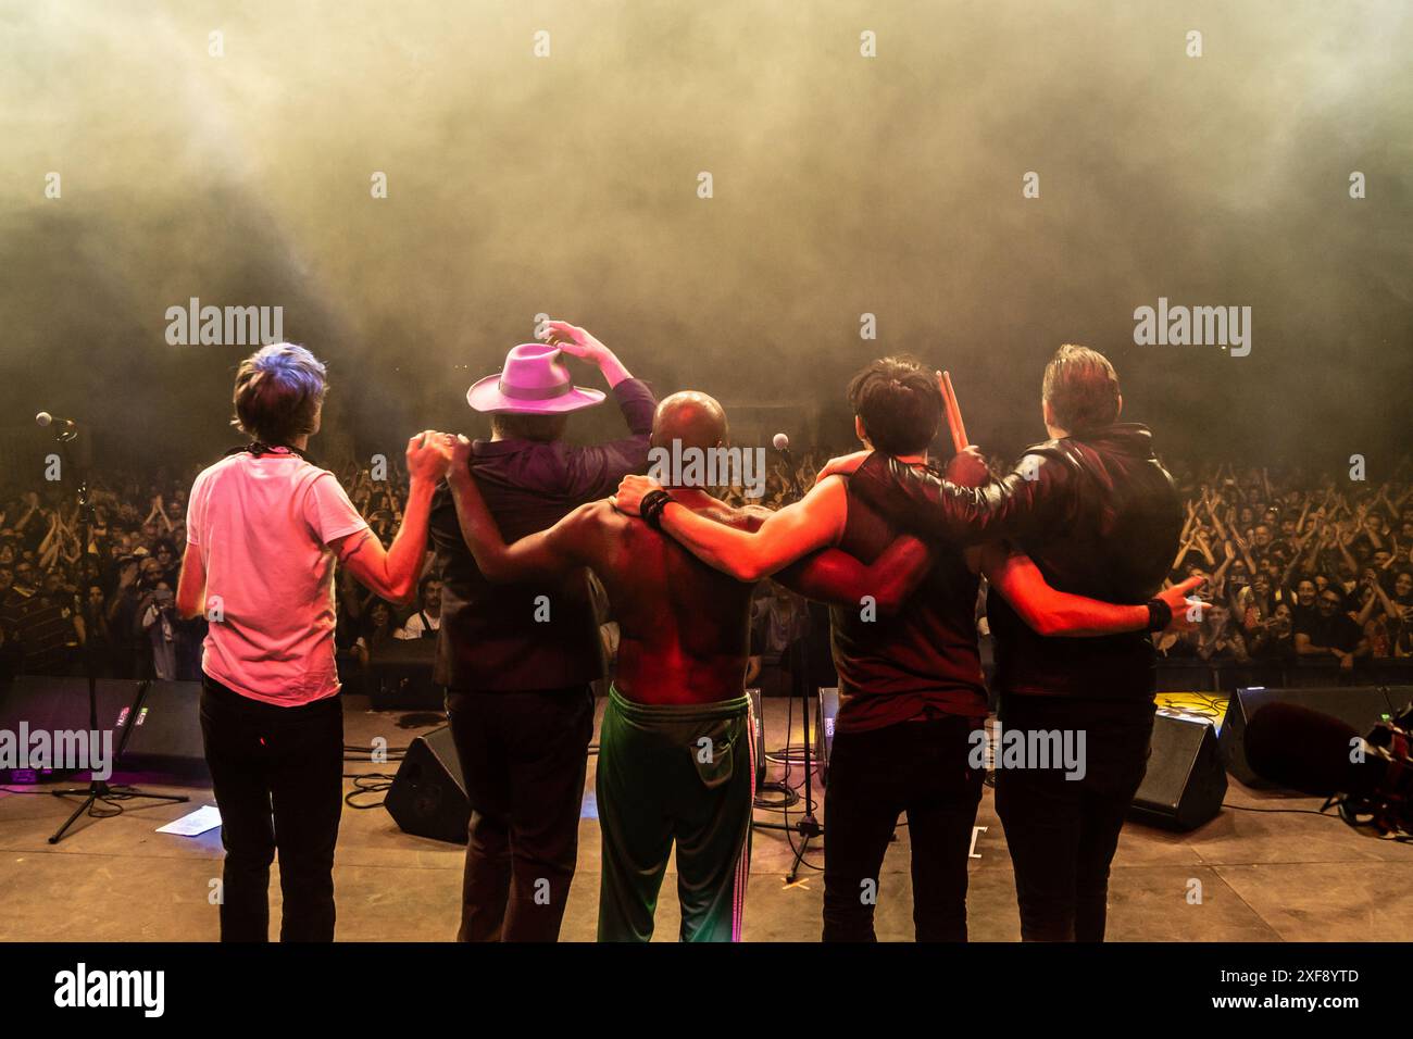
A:
[[[735,505],[780,507],[804,493],[828,457],[810,451],[767,469],[764,493],[726,491]],[[998,462],[998,471],[1000,471]],[[1200,574],[1211,601],[1200,629],[1166,635],[1167,657],[1201,660],[1361,660],[1413,656],[1413,466],[1382,483],[1296,466],[1170,465],[1184,499],[1171,580]],[[82,674],[83,649],[100,677],[199,677],[203,619],[174,608],[185,548],[185,503],[195,469],[107,474],[92,488],[88,551],[75,488],[0,488],[0,677]],[[374,481],[369,468],[336,469],[369,526],[390,541],[401,520],[404,474]],[[382,474],[380,474],[382,475]],[[390,639],[435,638],[441,585],[422,577],[398,608],[348,571],[336,584],[338,650],[346,674],[366,676]],[[978,623],[985,630],[985,595]],[[818,611],[814,625],[821,623]],[[811,611],[763,584],[753,619],[755,656],[783,654],[810,630]],[[612,649],[612,632],[605,632]]]

